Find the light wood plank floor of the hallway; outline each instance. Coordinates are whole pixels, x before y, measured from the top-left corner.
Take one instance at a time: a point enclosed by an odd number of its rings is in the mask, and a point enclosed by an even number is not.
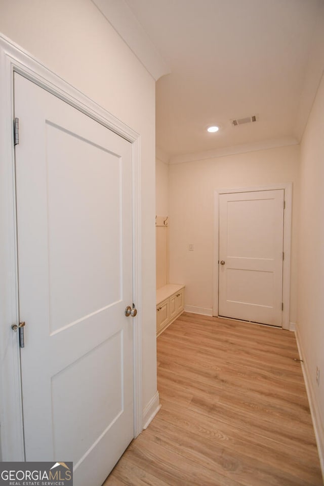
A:
[[[105,486],[322,485],[294,333],[182,314],[157,339],[162,408]]]

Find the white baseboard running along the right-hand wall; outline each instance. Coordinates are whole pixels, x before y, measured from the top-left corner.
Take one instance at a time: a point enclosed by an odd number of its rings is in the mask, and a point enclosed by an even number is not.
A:
[[[311,413],[311,416],[312,416],[313,427],[314,427],[314,432],[315,432],[315,437],[316,437],[320,468],[321,468],[322,476],[323,476],[323,480],[324,480],[324,426],[321,423],[321,417],[320,417],[320,413],[319,413],[319,409],[318,409],[318,404],[317,404],[317,401],[315,399],[315,394],[314,394],[312,382],[311,382],[311,379],[310,379],[310,373],[309,373],[309,369],[308,369],[308,366],[307,366],[306,355],[303,351],[302,342],[301,342],[299,332],[298,332],[298,325],[296,326],[296,333],[295,334],[296,334],[296,341],[297,341],[297,347],[298,347],[298,352],[299,352],[299,358],[303,360],[301,365],[302,365],[304,381],[305,381],[305,386],[306,386],[306,392],[307,392],[307,397],[308,397],[308,402],[309,402],[309,408],[310,408],[310,413]]]

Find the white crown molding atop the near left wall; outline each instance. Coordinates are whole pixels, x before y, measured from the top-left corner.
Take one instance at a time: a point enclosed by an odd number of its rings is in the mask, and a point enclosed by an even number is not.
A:
[[[170,73],[169,66],[157,51],[125,0],[92,0],[92,2],[155,81]]]

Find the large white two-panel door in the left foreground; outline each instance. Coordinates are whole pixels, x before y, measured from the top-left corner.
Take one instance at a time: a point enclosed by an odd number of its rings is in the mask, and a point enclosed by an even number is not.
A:
[[[132,146],[15,74],[27,461],[99,486],[134,436]]]

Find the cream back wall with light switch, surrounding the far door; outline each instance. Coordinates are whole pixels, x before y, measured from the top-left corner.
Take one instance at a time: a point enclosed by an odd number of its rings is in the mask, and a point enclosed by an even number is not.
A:
[[[214,191],[292,182],[290,321],[296,322],[298,170],[298,145],[170,165],[170,281],[185,284],[186,305],[206,313],[213,307]]]

